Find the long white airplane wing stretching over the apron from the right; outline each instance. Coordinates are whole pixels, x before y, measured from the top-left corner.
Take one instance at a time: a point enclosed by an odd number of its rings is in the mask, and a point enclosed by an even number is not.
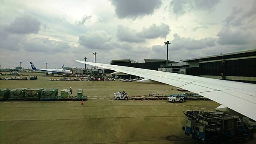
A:
[[[76,61],[180,87],[209,98],[212,101],[256,121],[256,84],[203,78],[127,66],[91,63],[81,60]]]

